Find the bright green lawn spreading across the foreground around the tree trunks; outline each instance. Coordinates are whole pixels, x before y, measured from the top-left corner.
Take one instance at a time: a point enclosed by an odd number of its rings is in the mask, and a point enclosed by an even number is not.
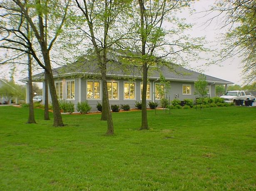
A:
[[[35,109],[0,107],[0,190],[255,191],[256,107],[65,115],[55,128]],[[52,117],[51,117],[52,118]]]

